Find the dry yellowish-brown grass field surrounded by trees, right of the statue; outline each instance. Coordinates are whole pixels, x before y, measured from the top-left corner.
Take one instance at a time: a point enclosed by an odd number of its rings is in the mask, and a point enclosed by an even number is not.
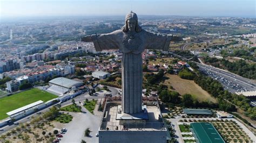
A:
[[[175,91],[179,92],[180,95],[191,94],[194,98],[199,101],[211,101],[216,103],[217,100],[211,97],[207,91],[199,87],[197,83],[192,80],[185,80],[180,78],[178,75],[166,74],[165,77],[169,79],[165,80],[164,84],[167,86],[172,85]]]

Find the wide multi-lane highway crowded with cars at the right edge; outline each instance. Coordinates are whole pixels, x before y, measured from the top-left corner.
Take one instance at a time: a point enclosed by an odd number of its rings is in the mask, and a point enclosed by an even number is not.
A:
[[[232,93],[256,90],[256,83],[247,78],[201,63],[197,63],[197,65],[199,66],[199,70],[219,81],[221,84],[223,84],[225,89]]]

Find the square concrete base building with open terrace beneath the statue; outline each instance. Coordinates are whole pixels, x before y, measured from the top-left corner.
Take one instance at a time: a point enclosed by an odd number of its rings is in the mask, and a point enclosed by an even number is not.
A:
[[[106,102],[99,127],[99,143],[163,142],[170,139],[157,102],[144,102],[142,112],[122,112],[122,102]]]

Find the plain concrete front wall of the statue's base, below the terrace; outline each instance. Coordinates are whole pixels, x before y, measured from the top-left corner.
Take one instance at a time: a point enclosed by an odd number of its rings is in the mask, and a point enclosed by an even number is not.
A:
[[[99,143],[166,143],[166,131],[99,131]]]

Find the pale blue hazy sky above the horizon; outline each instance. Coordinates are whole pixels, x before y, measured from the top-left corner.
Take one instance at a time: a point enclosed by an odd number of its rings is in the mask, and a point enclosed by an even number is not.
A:
[[[251,17],[255,0],[0,0],[0,17],[137,15]]]

